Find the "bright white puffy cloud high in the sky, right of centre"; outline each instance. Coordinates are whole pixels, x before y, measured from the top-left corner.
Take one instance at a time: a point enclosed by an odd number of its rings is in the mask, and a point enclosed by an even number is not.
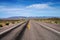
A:
[[[26,8],[35,8],[35,9],[51,9],[52,7],[49,4],[32,4]]]

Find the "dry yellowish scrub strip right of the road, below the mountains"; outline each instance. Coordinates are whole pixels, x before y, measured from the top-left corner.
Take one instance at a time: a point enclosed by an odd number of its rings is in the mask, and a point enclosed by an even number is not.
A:
[[[36,21],[60,24],[60,18],[35,19]]]

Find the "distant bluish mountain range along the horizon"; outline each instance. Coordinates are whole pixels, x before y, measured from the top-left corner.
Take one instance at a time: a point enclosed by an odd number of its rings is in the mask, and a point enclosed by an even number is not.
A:
[[[14,17],[8,17],[8,18],[1,18],[0,20],[18,20],[18,19],[46,19],[46,18],[60,18],[60,17],[24,17],[24,16],[14,16]]]

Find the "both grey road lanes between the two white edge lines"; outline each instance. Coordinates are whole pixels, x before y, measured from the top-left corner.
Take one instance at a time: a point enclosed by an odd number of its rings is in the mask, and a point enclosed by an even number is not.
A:
[[[26,25],[26,23],[22,26],[24,25]],[[23,29],[22,31],[22,26],[20,26],[7,34],[1,40],[60,40],[60,34],[44,28],[43,25],[45,24],[42,23],[41,25],[39,22],[30,20],[26,29]]]

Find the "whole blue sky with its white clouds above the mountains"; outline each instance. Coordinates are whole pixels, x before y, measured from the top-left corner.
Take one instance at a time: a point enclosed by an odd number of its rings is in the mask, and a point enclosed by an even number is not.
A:
[[[60,17],[60,0],[0,0],[0,18],[11,16]]]

